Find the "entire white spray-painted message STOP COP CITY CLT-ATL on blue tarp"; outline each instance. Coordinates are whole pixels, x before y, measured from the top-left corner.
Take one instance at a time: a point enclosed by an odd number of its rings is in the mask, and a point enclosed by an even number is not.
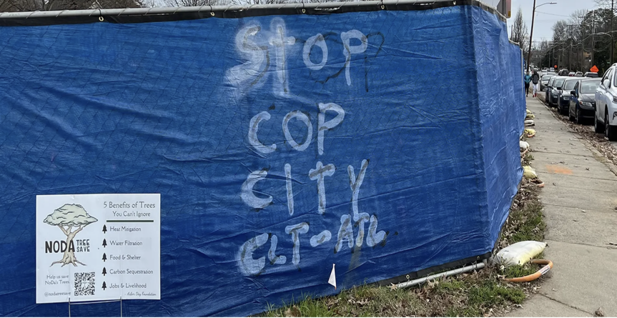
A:
[[[290,94],[287,58],[289,56],[289,48],[299,41],[294,36],[289,36],[288,33],[283,20],[280,18],[274,18],[271,21],[269,30],[262,30],[257,23],[249,23],[238,31],[235,42],[236,50],[245,62],[228,70],[226,77],[228,82],[237,89],[241,96],[251,89],[263,86],[267,81],[271,81],[274,96],[284,97]],[[326,39],[332,35],[332,33],[327,35],[317,34],[304,41],[301,54],[302,61],[307,69],[319,71],[328,63],[329,50]],[[300,40],[300,42],[302,41]],[[328,78],[344,73],[345,83],[347,86],[351,86],[352,76],[350,68],[352,68],[354,63],[354,55],[366,52],[368,37],[361,31],[349,30],[342,32],[339,35],[339,41],[336,41],[336,43],[343,47],[344,65],[335,75],[328,75]],[[310,54],[315,49],[321,50],[321,60],[311,59]],[[327,79],[323,83],[326,81]],[[272,155],[277,150],[276,143],[265,145],[259,139],[259,129],[261,126],[266,125],[267,128],[265,129],[267,131],[281,129],[281,141],[289,145],[292,152],[297,153],[303,153],[310,149],[313,142],[313,134],[317,134],[317,138],[314,139],[317,145],[313,144],[312,149],[316,147],[318,155],[324,155],[325,145],[328,142],[328,131],[344,123],[345,110],[341,105],[332,102],[316,103],[316,105],[316,127],[313,127],[314,123],[310,119],[315,118],[315,116],[311,117],[309,113],[300,112],[300,110],[292,110],[286,113],[283,118],[273,121],[270,121],[272,118],[268,111],[257,113],[249,122],[246,135],[248,143],[256,152],[264,156]],[[326,118],[329,119],[326,120]],[[295,138],[292,136],[289,125],[294,121],[300,123],[300,126],[306,127],[304,136],[295,136]],[[279,128],[276,128],[276,126]],[[313,129],[317,131],[313,132]],[[281,232],[278,233],[279,235],[262,233],[252,237],[244,242],[238,251],[238,266],[242,274],[261,274],[268,266],[266,257],[270,261],[269,266],[296,266],[299,268],[302,264],[300,256],[302,255],[303,248],[316,248],[324,244],[331,244],[333,253],[340,253],[346,249],[349,250],[349,253],[352,253],[354,249],[362,248],[365,243],[368,247],[375,247],[380,243],[385,243],[386,232],[378,230],[377,217],[362,212],[360,207],[358,207],[360,188],[365,180],[368,164],[369,160],[366,158],[362,160],[357,170],[352,165],[347,166],[352,213],[341,215],[339,217],[340,224],[337,224],[336,228],[313,228],[315,226],[310,225],[308,222],[298,222],[294,219],[293,224],[288,224],[284,229],[281,229]],[[289,213],[289,216],[294,215],[294,182],[292,181],[306,178],[307,182],[314,181],[317,186],[317,198],[315,199],[317,214],[325,217],[328,211],[327,184],[335,173],[344,173],[345,169],[337,169],[333,163],[322,162],[321,160],[315,160],[314,168],[302,173],[293,171],[291,163],[285,163],[281,168],[286,181],[285,193],[288,206],[287,211],[284,213]],[[254,190],[258,182],[265,182],[264,184],[270,182],[267,178],[270,169],[271,167],[252,171],[247,175],[240,189],[242,202],[250,208],[257,209],[257,211],[270,208],[275,200],[275,198],[268,194],[259,193],[259,196],[257,196]],[[292,177],[294,175],[297,179]],[[291,255],[280,255],[276,251],[278,239],[285,237],[285,235],[289,235],[287,237],[293,245]],[[336,238],[334,240],[333,235]],[[307,241],[309,244],[305,243]],[[270,248],[267,248],[268,242],[270,242]],[[256,252],[260,247],[267,248],[267,252],[263,252],[262,249]],[[291,262],[288,262],[290,256]]]

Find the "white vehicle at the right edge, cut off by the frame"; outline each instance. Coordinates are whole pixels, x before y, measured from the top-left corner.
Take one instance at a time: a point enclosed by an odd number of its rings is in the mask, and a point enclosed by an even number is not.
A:
[[[595,132],[604,132],[610,141],[617,141],[617,63],[604,73],[595,91]]]

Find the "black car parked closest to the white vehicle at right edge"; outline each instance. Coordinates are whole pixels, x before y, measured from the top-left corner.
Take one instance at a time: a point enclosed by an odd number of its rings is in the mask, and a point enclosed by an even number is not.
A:
[[[579,80],[570,92],[570,120],[582,124],[585,118],[595,116],[595,90],[600,86],[600,78],[583,78]]]

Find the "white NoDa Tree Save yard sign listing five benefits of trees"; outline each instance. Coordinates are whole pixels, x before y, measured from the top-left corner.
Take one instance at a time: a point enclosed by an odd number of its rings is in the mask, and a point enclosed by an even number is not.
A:
[[[36,196],[36,303],[160,300],[160,194]]]

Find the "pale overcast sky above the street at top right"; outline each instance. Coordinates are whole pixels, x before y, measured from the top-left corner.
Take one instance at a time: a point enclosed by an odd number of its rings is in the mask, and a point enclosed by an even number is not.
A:
[[[495,7],[499,0],[483,0],[487,4]],[[540,4],[545,2],[557,2],[557,4]],[[512,17],[508,18],[508,34],[510,26],[514,22],[518,8],[523,10],[523,20],[528,30],[531,30],[531,11],[534,7],[534,0],[512,0]],[[580,9],[595,9],[594,0],[536,0],[536,22],[534,23],[534,44],[542,39],[550,40],[553,37],[552,27],[559,20],[567,20],[572,12]]]

